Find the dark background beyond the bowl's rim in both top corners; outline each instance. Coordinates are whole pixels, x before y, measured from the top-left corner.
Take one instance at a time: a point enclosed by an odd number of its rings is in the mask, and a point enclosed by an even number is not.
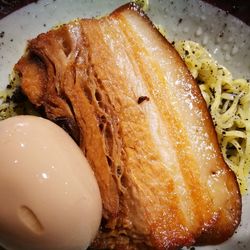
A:
[[[104,0],[103,0],[104,1]],[[128,0],[129,1],[129,0]],[[228,13],[240,18],[243,22],[250,25],[250,0],[204,0]],[[0,19],[12,11],[21,8],[36,0],[0,0]]]

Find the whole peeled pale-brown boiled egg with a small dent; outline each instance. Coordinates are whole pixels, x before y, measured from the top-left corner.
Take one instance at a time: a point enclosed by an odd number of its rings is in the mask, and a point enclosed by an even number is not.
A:
[[[102,203],[92,169],[71,137],[35,116],[0,122],[0,245],[86,249]]]

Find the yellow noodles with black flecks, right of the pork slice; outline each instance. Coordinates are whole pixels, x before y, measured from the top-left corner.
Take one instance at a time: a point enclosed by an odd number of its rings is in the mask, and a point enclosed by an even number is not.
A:
[[[244,194],[250,172],[250,84],[245,79],[234,80],[198,43],[179,41],[175,48],[199,83],[223,157]]]

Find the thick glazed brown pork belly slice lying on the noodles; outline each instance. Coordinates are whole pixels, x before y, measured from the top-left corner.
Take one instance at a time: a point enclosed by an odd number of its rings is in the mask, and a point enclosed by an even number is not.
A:
[[[177,249],[228,239],[241,217],[199,87],[134,4],[29,41],[15,70],[68,130],[103,200],[97,249]]]

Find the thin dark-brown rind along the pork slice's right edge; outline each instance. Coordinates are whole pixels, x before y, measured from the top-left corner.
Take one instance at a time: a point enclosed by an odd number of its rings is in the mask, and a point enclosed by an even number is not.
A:
[[[173,47],[173,45],[166,39],[166,37],[163,36],[163,34],[158,30],[158,28],[154,25],[154,23],[151,21],[151,19],[147,16],[147,14],[134,2],[130,2],[127,4],[122,5],[121,7],[117,8],[115,11],[113,11],[111,13],[111,16],[119,16],[119,14],[121,14],[124,10],[132,10],[135,11],[137,13],[139,13],[139,15],[141,17],[143,17],[145,19],[145,21],[152,26],[152,28],[157,32],[159,38],[165,42],[165,44],[169,47]],[[176,51],[176,49],[174,48],[173,53],[175,53],[175,58],[178,58],[178,63],[182,64],[184,67],[187,68],[185,62],[182,60],[182,58],[180,57],[179,53]],[[214,123],[211,117],[210,112],[208,111],[207,108],[207,104],[206,101],[204,100],[201,90],[199,88],[198,83],[196,82],[196,80],[193,78],[192,74],[190,73],[190,71],[188,70],[188,74],[189,77],[193,80],[192,83],[196,83],[193,84],[194,87],[194,94],[197,98],[200,98],[202,100],[202,103],[200,105],[199,108],[202,109],[202,111],[205,113],[205,115],[208,117],[207,121],[206,121],[206,127],[212,132],[212,137],[214,138],[214,145],[216,146],[216,148],[218,149],[218,152],[221,152],[220,149],[220,145],[218,142],[218,138],[217,138],[217,134],[215,131],[215,127],[214,127]],[[237,182],[237,177],[235,175],[235,173],[231,170],[231,168],[226,164],[223,156],[222,156],[222,152],[221,152],[221,160],[223,161],[224,165],[226,166],[226,170],[228,171],[229,177],[232,179],[232,181],[235,182],[235,187],[237,188],[237,193],[239,194],[239,200],[240,200],[240,204],[239,204],[239,211],[237,214],[237,218],[235,218],[237,220],[237,224],[231,228],[231,230],[228,230],[228,232],[224,235],[218,235],[218,237],[216,237],[217,235],[217,228],[216,227],[209,227],[206,230],[204,230],[202,232],[202,234],[200,235],[200,237],[197,239],[197,244],[198,245],[205,245],[205,244],[219,244],[224,242],[225,240],[229,239],[233,234],[234,231],[236,230],[236,228],[238,227],[238,225],[240,224],[241,221],[241,211],[242,211],[242,199],[241,199],[241,193],[240,193],[240,189],[239,189],[239,185]],[[215,224],[216,226],[216,224]]]

